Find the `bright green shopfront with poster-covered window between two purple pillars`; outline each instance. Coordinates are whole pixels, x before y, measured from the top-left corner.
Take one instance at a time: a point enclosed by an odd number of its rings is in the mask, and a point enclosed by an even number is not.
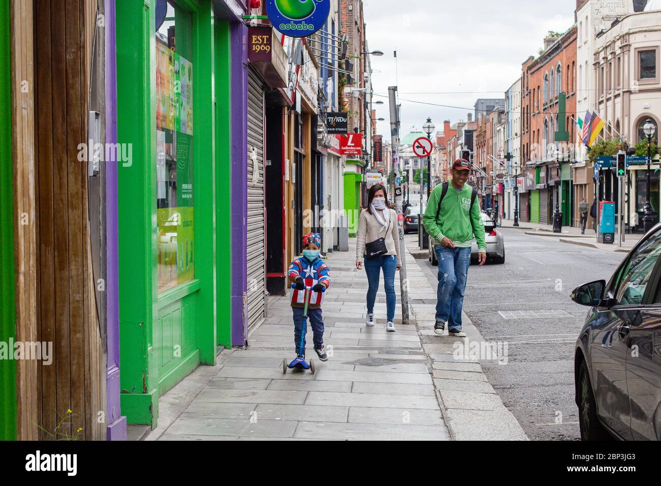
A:
[[[117,18],[122,413],[156,426],[159,397],[231,344],[231,27],[211,0]]]

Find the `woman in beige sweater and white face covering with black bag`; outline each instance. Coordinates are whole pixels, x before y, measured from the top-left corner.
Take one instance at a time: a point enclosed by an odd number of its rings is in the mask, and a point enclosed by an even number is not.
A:
[[[360,213],[358,241],[356,242],[356,268],[365,265],[368,274],[368,316],[366,325],[374,325],[374,302],[379,290],[383,269],[385,302],[387,307],[386,331],[395,332],[395,271],[401,267],[397,213],[390,209],[385,187],[375,184],[369,188],[367,208]]]

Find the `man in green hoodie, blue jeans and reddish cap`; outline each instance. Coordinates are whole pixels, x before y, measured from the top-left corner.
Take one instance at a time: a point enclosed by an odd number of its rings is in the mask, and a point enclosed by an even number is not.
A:
[[[422,216],[430,244],[436,243],[438,290],[434,333],[437,335],[443,334],[447,322],[449,335],[466,336],[461,331],[461,309],[473,235],[477,240],[480,266],[486,262],[485,226],[477,191],[466,184],[471,169],[469,161],[457,159],[452,165],[452,181],[434,188]]]

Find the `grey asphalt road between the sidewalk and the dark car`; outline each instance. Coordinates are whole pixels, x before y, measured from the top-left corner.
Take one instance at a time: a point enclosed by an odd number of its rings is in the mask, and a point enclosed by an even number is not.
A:
[[[506,263],[471,265],[463,306],[485,341],[508,343],[507,364],[483,363],[483,370],[530,440],[580,440],[573,352],[586,308],[569,295],[580,284],[608,280],[626,254],[524,235],[522,229],[499,231]],[[436,267],[424,263],[436,275]],[[505,319],[499,313],[542,310],[565,315]]]

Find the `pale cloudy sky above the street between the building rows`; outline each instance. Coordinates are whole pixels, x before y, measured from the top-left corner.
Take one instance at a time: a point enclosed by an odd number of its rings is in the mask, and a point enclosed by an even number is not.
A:
[[[469,112],[405,100],[472,112],[478,98],[504,98],[545,34],[572,26],[575,7],[576,0],[364,0],[369,50],[385,53],[371,58],[374,93],[385,96],[374,97],[385,102],[375,105],[377,118],[385,118],[378,132],[389,139],[389,86],[399,86],[401,136],[420,130],[428,116],[438,130]]]

